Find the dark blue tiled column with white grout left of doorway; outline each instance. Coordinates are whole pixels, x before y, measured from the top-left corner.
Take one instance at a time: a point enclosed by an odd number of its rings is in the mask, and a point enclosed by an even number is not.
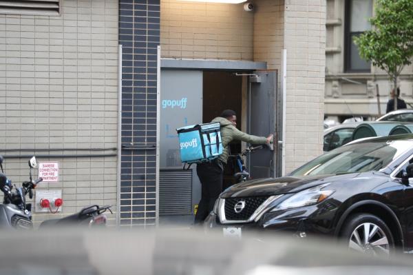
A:
[[[156,79],[160,1],[120,0],[122,159],[120,225],[156,223]]]

